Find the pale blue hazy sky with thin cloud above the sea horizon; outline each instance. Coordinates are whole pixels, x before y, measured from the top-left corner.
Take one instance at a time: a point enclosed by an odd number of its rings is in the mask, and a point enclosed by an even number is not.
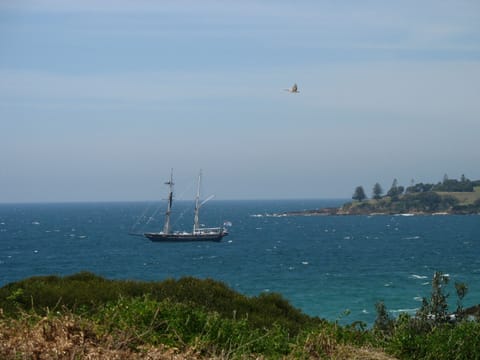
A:
[[[478,0],[0,0],[0,203],[161,199],[172,168],[348,199],[480,179],[479,135]]]

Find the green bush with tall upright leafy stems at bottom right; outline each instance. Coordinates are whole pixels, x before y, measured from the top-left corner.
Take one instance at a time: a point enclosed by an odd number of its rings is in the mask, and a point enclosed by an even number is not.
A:
[[[445,287],[448,277],[435,272],[430,297],[423,299],[415,317],[402,314],[396,320],[388,317],[383,303],[377,305],[378,344],[402,359],[480,359],[480,324],[466,321],[461,305],[467,286],[456,283],[457,313],[448,313]],[[456,319],[456,320],[453,320]]]

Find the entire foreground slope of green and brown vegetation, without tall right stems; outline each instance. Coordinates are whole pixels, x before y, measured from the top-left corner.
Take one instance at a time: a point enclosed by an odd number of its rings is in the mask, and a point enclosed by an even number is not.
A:
[[[1,359],[480,359],[478,322],[340,326],[213,280],[35,277],[1,288],[0,309]]]

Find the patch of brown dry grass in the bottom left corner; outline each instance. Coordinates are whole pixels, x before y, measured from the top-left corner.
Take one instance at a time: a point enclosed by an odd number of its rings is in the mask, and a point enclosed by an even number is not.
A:
[[[129,348],[129,339],[99,337],[95,325],[67,314],[0,319],[1,359],[200,359],[194,351],[159,347]]]

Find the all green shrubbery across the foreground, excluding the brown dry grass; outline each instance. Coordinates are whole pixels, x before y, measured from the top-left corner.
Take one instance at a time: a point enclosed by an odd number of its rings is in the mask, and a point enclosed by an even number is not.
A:
[[[415,317],[392,319],[378,303],[375,325],[367,329],[362,322],[341,326],[309,317],[279,294],[247,297],[211,279],[138,282],[84,272],[34,277],[0,288],[0,320],[81,314],[95,324],[94,338],[111,338],[115,348],[135,352],[144,345],[165,345],[205,358],[330,358],[338,351],[367,347],[400,359],[480,359],[480,323],[464,320],[469,312],[462,300],[468,288],[455,284],[462,316],[451,323],[447,282],[435,273],[431,295]]]

